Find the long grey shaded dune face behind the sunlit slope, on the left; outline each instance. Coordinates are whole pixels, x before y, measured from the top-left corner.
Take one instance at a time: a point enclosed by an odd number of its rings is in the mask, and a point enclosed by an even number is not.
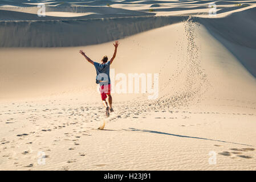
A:
[[[56,21],[0,22],[1,47],[87,46],[180,22],[185,17],[125,17]],[[15,28],[19,26],[20,28]],[[98,28],[104,26],[105,28]],[[53,28],[54,27],[54,28]],[[29,31],[28,31],[29,30]],[[62,30],[65,30],[64,32]],[[62,33],[60,33],[62,32]],[[75,33],[74,33],[75,32]],[[68,35],[73,36],[68,36]],[[41,36],[38,36],[41,35]],[[30,41],[27,41],[30,40]]]

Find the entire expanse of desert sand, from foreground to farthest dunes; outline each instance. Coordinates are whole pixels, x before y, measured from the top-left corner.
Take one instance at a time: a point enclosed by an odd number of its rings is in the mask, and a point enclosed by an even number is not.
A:
[[[38,3],[0,0],[1,170],[256,170],[256,1]],[[79,50],[114,40],[106,118]]]

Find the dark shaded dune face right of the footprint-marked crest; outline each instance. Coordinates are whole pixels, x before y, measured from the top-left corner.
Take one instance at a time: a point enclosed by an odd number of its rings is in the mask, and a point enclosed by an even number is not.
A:
[[[256,19],[253,18],[255,16],[256,7],[225,18],[200,19],[200,23],[229,49],[254,77],[256,77],[256,35],[254,34]]]

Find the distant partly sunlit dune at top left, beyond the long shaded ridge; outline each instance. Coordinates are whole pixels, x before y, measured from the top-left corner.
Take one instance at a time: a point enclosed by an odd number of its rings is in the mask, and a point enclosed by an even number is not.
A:
[[[1,10],[2,9],[2,10]],[[155,13],[131,11],[113,7],[76,6],[71,3],[60,3],[56,6],[45,7],[46,16],[38,16],[38,6],[33,7],[2,7],[0,6],[1,20],[62,20],[62,19],[91,19],[113,18],[122,16],[146,16]],[[13,12],[14,11],[14,12]],[[18,13],[19,12],[19,13]],[[53,12],[56,12],[53,14]],[[68,13],[72,13],[70,16]],[[66,16],[67,15],[67,16]],[[80,17],[82,16],[82,17]],[[74,18],[70,18],[74,17]]]

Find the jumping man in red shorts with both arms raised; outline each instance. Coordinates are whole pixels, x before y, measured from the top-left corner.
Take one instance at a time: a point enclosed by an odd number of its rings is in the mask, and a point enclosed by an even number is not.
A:
[[[113,45],[115,46],[115,52],[113,53],[112,58],[110,59],[110,61],[108,61],[108,57],[104,56],[103,59],[101,60],[101,64],[92,61],[89,57],[86,56],[86,54],[82,50],[79,51],[89,63],[94,65],[96,69],[96,73],[97,73],[96,83],[100,84],[100,95],[101,95],[103,105],[106,107],[107,117],[109,117],[109,111],[111,113],[114,111],[112,108],[111,81],[109,77],[109,68],[116,57],[116,51],[117,51],[119,42],[116,41]],[[106,101],[107,97],[108,97],[108,103]],[[110,108],[108,107],[108,104]]]

